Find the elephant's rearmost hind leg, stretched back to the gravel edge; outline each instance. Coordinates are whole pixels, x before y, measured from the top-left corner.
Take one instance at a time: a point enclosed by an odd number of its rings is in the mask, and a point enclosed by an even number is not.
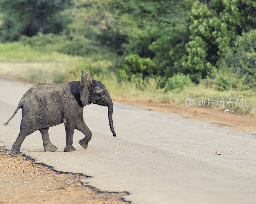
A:
[[[23,117],[20,122],[20,133],[16,139],[16,141],[12,145],[12,149],[10,150],[9,154],[13,157],[20,156],[20,146],[24,139],[36,131],[36,128],[33,126],[31,120],[28,120],[27,117]]]

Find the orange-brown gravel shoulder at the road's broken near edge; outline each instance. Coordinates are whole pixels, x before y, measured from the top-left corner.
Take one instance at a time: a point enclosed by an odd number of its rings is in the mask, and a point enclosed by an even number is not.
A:
[[[129,203],[122,200],[127,193],[100,192],[81,182],[87,178],[55,171],[27,156],[12,157],[0,148],[0,203]]]

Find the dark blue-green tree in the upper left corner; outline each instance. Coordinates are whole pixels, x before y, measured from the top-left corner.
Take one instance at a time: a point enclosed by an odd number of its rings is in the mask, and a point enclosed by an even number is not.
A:
[[[70,0],[0,0],[1,40],[18,40],[37,32],[60,33],[68,18],[60,13]]]

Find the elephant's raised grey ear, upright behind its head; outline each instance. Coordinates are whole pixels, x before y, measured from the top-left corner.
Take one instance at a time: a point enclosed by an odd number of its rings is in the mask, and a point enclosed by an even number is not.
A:
[[[86,106],[86,104],[88,103],[92,80],[92,76],[87,71],[83,70],[79,86],[80,99],[83,106]]]

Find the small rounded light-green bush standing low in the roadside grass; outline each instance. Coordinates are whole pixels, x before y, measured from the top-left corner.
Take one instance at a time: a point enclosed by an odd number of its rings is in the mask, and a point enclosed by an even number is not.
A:
[[[188,75],[182,73],[175,74],[173,77],[169,77],[165,84],[166,90],[178,89],[183,90],[186,86],[191,86],[192,80]]]

